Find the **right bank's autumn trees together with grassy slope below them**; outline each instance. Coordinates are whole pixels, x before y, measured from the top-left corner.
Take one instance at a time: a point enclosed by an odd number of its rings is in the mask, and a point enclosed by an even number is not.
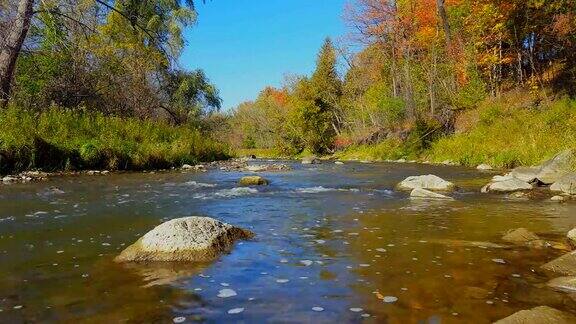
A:
[[[228,116],[233,147],[513,167],[576,143],[574,1],[357,0],[343,17],[312,75]]]

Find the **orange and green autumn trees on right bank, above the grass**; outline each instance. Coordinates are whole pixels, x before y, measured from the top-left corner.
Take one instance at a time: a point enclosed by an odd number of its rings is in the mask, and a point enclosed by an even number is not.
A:
[[[357,0],[344,16],[363,49],[327,40],[312,76],[241,104],[235,147],[323,154],[391,141],[418,152],[487,98],[520,89],[523,108],[537,108],[575,94],[574,1]]]

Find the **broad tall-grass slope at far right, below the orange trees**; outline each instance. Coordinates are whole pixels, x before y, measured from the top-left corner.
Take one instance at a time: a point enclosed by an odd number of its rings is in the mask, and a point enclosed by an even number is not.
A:
[[[427,158],[511,168],[537,165],[576,148],[576,100],[561,99],[530,108],[492,102],[478,108],[477,116],[469,131],[433,143],[425,153]]]

